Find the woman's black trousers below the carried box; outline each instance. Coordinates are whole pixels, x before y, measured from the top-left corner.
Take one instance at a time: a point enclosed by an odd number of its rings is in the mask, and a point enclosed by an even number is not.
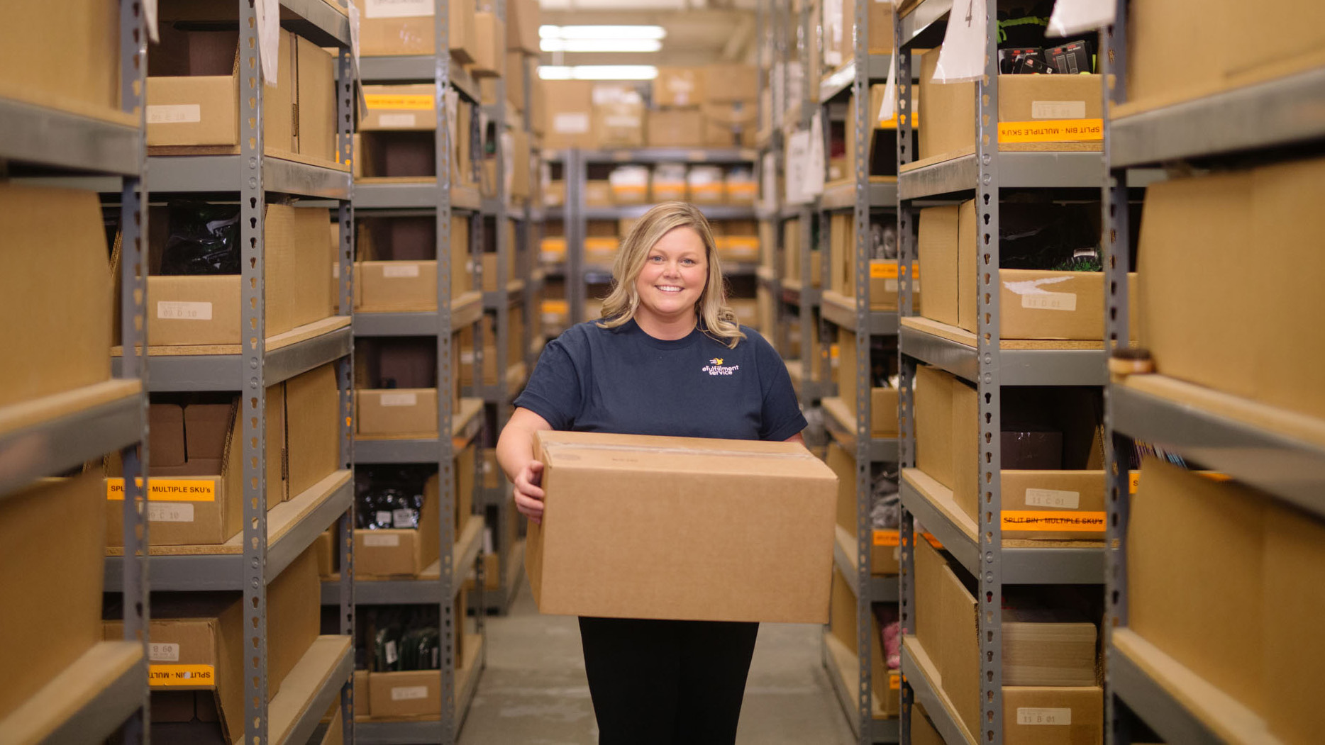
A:
[[[580,617],[599,745],[731,745],[758,623]]]

